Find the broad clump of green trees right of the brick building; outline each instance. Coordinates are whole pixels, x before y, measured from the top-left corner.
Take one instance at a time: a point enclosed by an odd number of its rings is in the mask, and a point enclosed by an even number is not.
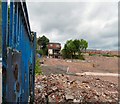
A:
[[[68,58],[68,59],[84,60],[82,52],[86,51],[87,47],[88,47],[88,42],[84,39],[68,40],[62,50],[62,56],[63,58]]]

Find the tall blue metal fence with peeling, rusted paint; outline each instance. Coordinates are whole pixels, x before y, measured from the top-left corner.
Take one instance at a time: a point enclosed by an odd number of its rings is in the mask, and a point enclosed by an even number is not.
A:
[[[30,29],[26,3],[2,2],[3,102],[33,102],[36,33]]]

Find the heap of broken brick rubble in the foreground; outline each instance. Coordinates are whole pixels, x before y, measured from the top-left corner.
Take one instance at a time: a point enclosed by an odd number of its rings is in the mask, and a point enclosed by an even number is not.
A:
[[[35,104],[81,102],[117,102],[118,86],[99,78],[70,80],[71,76],[51,74],[36,76]],[[82,76],[84,77],[84,76]]]

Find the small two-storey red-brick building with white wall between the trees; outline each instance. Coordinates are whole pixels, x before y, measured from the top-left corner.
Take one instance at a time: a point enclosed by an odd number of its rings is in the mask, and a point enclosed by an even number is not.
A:
[[[49,43],[48,44],[48,57],[50,58],[60,58],[60,43]]]

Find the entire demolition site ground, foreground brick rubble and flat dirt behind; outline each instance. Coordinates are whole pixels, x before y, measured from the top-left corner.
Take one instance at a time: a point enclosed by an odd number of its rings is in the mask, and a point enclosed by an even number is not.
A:
[[[43,58],[35,79],[35,103],[118,103],[118,57],[85,60]]]

